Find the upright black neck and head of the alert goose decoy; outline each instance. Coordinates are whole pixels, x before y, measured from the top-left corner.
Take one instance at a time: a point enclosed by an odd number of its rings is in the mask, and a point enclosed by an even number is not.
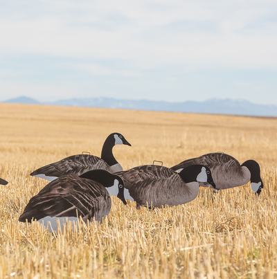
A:
[[[112,153],[112,149],[114,145],[119,145],[119,144],[124,144],[124,145],[130,145],[124,136],[120,133],[112,133],[110,134],[107,138],[105,143],[103,144],[102,147],[102,152],[101,152],[101,159],[104,160],[108,165],[116,165],[118,161],[114,158],[114,154]]]

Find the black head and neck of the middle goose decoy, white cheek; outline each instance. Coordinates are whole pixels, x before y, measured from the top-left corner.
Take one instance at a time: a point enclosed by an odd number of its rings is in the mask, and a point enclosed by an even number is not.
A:
[[[205,165],[189,165],[179,172],[180,177],[185,183],[193,181],[207,182],[215,188],[215,182],[211,174],[211,170]]]

